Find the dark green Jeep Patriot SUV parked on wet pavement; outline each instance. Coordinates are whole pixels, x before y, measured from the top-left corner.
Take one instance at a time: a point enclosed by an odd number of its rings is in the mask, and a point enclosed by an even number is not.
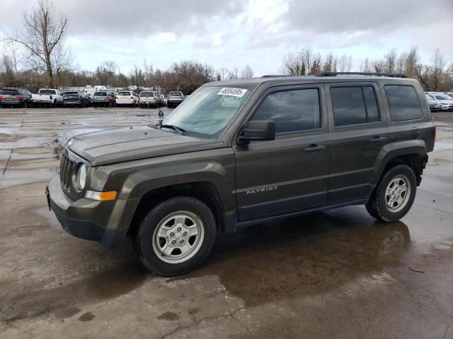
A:
[[[71,138],[47,198],[69,234],[129,235],[161,275],[238,226],[362,204],[398,220],[435,141],[418,82],[368,73],[207,83],[160,122]]]

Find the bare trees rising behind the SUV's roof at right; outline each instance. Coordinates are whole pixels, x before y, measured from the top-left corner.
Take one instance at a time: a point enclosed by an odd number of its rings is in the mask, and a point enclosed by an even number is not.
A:
[[[359,71],[367,73],[399,73],[418,79],[423,89],[435,92],[453,90],[453,62],[448,64],[440,49],[432,52],[430,62],[423,63],[418,47],[398,54],[390,49],[383,57],[366,57],[360,61]],[[285,54],[281,72],[288,76],[313,76],[321,72],[352,71],[352,55],[337,56],[333,52],[321,54],[310,47]]]

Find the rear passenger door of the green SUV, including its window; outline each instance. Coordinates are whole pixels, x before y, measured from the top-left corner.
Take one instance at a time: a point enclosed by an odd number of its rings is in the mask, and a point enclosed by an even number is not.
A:
[[[328,83],[331,161],[327,203],[333,205],[369,197],[380,150],[391,142],[386,114],[374,82]]]

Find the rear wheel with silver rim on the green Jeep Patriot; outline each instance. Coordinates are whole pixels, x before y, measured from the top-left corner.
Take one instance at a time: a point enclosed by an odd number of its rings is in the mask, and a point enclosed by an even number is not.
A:
[[[416,189],[417,180],[411,167],[396,165],[381,178],[365,207],[376,219],[400,220],[411,209]]]

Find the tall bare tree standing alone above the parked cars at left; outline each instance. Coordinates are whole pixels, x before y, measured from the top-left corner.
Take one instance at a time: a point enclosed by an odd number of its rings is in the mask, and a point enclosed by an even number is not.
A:
[[[62,60],[69,60],[63,40],[68,19],[57,13],[50,0],[38,0],[38,8],[23,13],[23,30],[7,38],[8,42],[20,44],[28,53],[33,68],[47,73],[50,85],[55,83],[55,63],[62,66]]]

